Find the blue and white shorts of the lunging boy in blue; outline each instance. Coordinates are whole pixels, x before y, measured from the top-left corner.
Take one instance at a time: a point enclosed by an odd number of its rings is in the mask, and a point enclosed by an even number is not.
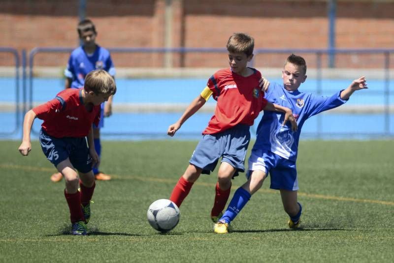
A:
[[[248,161],[246,178],[260,170],[271,176],[271,189],[298,190],[296,162],[285,159],[269,150],[253,149]]]

